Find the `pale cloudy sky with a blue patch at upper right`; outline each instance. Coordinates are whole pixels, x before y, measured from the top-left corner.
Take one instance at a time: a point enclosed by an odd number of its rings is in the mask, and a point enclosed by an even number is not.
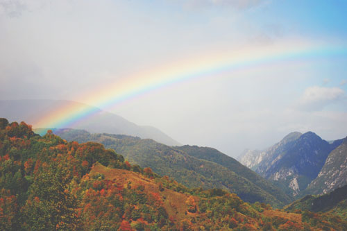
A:
[[[293,131],[341,139],[346,9],[338,0],[0,0],[0,99],[87,103],[233,157]]]

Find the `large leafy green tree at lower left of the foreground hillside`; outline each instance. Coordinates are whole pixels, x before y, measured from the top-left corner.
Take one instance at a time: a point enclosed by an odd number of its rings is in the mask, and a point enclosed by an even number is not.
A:
[[[68,190],[71,172],[64,160],[42,164],[24,206],[24,228],[28,230],[75,230],[76,198]]]

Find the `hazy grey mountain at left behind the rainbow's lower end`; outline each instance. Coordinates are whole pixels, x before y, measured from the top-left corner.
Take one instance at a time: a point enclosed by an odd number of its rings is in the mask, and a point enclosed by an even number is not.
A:
[[[74,125],[71,125],[71,128],[85,129],[89,132],[133,135],[154,139],[157,142],[171,146],[180,145],[176,140],[158,130],[158,128],[138,126],[123,117],[119,117],[117,114],[105,112],[99,108],[74,101],[0,100],[0,117],[8,118],[11,121],[27,121],[28,123],[35,124],[37,118],[42,115],[55,112],[58,108],[67,107],[96,112],[92,116],[81,119],[78,123],[74,123]],[[41,132],[43,135],[46,133],[46,129],[36,130],[36,132]]]

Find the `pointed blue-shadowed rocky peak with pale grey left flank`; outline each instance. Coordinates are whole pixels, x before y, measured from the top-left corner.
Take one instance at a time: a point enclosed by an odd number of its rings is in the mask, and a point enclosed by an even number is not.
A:
[[[287,194],[297,196],[318,176],[329,153],[341,142],[337,140],[330,144],[314,132],[303,135],[293,132],[260,153],[262,160],[253,169],[273,180]]]

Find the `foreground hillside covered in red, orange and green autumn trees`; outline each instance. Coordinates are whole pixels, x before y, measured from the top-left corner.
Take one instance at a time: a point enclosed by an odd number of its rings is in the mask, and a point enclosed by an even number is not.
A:
[[[101,144],[66,142],[0,119],[1,230],[346,230],[331,214],[304,216],[244,203],[221,189],[188,189]]]

